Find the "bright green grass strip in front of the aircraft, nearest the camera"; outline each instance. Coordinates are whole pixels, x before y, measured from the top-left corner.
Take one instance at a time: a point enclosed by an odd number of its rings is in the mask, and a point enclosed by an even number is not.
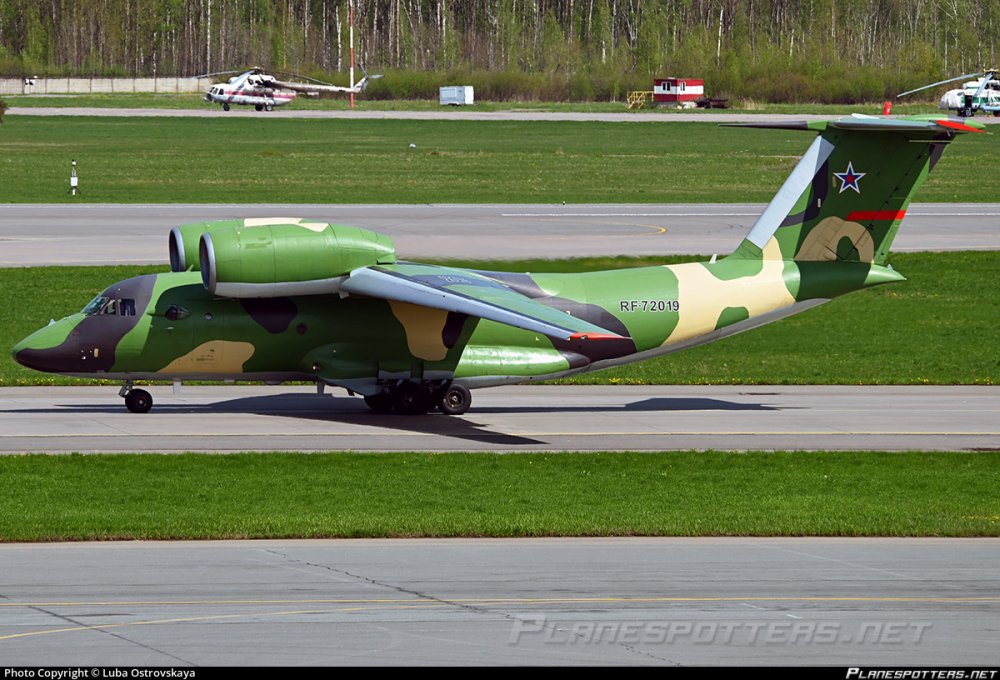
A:
[[[997,454],[0,457],[0,540],[997,536]]]

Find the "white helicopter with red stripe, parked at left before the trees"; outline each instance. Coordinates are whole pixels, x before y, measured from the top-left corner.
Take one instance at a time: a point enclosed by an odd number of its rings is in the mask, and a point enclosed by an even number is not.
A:
[[[237,71],[206,73],[204,76],[199,77],[207,78],[225,73],[237,73]],[[368,75],[365,73],[365,77],[355,83],[354,71],[352,69],[351,85],[343,87],[324,83],[315,78],[307,78],[294,74],[286,75],[309,82],[279,80],[273,75],[265,73],[264,69],[258,66],[233,76],[225,83],[213,84],[205,93],[205,101],[221,104],[224,111],[228,111],[230,106],[234,104],[238,106],[252,106],[258,111],[271,111],[276,106],[284,106],[291,103],[300,94],[307,97],[318,97],[320,94],[360,94],[368,87],[369,81],[382,77],[381,74]]]

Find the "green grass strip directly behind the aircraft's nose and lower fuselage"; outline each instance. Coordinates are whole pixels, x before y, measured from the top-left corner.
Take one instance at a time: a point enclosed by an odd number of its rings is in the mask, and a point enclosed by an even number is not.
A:
[[[688,258],[689,259],[689,258]],[[590,258],[449,262],[512,271],[584,271],[681,261]],[[896,254],[908,281],[853,293],[817,309],[720,342],[572,383],[617,384],[1000,384],[994,301],[1000,253]],[[79,311],[106,286],[165,268],[0,269],[0,346]],[[38,291],[45,291],[39,297]],[[28,303],[30,301],[30,304]],[[0,385],[75,384],[37,373],[0,352]]]

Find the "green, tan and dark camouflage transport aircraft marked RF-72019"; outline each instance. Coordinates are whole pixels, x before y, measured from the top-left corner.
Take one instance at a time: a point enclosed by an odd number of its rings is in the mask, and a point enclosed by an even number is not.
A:
[[[376,411],[461,414],[476,387],[693,347],[903,277],[886,265],[945,146],[983,126],[855,116],[749,127],[818,133],[747,237],[706,263],[511,274],[396,259],[392,241],[304,219],[189,224],[172,273],[110,286],[13,349],[21,364],[124,381],[316,381]]]

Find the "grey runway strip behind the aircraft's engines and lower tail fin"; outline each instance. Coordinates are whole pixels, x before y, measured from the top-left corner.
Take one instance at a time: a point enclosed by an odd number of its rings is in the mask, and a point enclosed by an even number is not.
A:
[[[403,258],[728,254],[763,204],[35,205],[0,204],[0,266],[167,262],[178,224],[295,216],[385,233]],[[1000,250],[1000,204],[913,204],[897,252]]]

